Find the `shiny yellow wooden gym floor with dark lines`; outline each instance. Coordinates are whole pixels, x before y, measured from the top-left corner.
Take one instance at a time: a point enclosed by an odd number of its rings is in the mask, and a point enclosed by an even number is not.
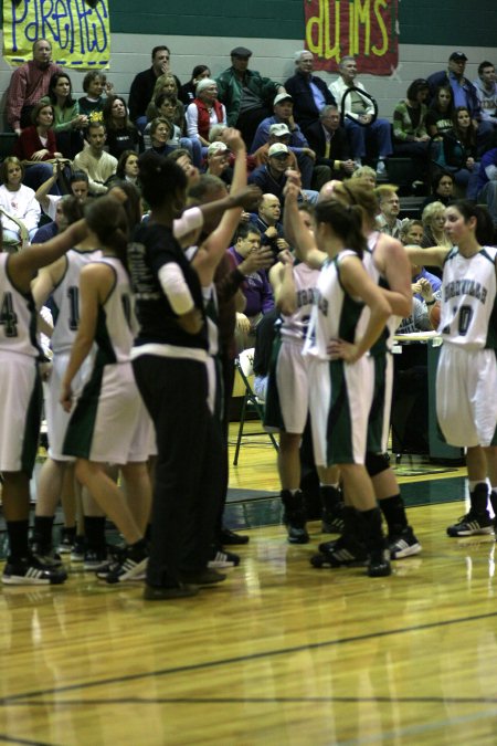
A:
[[[230,504],[251,542],[195,598],[147,603],[77,566],[0,590],[0,743],[497,743],[495,540],[445,535],[464,471],[403,480],[423,553],[370,579],[310,567],[317,523],[286,543],[274,455],[243,446],[231,485],[269,496]]]

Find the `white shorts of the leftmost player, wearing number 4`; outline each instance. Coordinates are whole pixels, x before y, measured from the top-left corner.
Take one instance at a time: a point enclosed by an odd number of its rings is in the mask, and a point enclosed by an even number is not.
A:
[[[0,471],[33,471],[42,391],[34,357],[0,354]]]

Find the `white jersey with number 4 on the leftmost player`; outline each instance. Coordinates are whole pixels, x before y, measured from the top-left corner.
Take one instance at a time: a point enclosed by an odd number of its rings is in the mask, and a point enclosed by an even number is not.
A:
[[[0,350],[39,357],[34,301],[12,285],[8,260],[9,254],[0,253]]]

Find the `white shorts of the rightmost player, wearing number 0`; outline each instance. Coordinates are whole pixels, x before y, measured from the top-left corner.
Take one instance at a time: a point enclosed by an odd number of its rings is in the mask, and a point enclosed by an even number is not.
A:
[[[451,445],[490,445],[497,424],[494,349],[466,350],[444,343],[436,370],[436,417]]]

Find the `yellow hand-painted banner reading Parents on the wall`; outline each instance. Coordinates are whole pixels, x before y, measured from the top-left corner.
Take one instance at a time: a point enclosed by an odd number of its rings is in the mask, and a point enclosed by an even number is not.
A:
[[[46,39],[52,60],[76,70],[106,69],[110,59],[107,0],[4,0],[3,56],[11,65],[32,60],[33,42]]]

